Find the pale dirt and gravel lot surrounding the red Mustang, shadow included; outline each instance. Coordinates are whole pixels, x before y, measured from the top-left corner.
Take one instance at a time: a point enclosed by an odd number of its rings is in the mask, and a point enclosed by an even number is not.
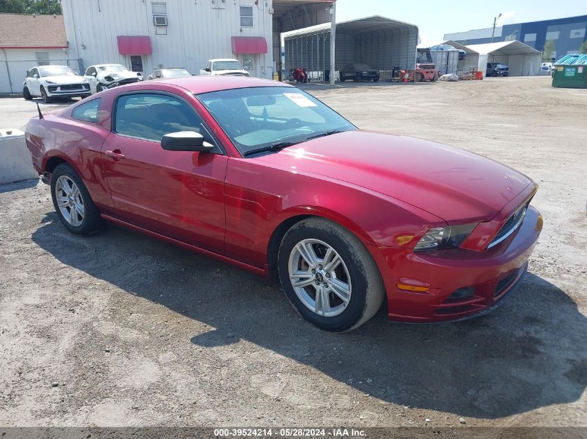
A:
[[[540,183],[544,232],[511,300],[328,334],[255,275],[117,227],[74,236],[43,184],[0,186],[0,424],[587,426],[587,90],[538,77],[313,93],[361,128]],[[0,128],[35,111],[1,100]]]

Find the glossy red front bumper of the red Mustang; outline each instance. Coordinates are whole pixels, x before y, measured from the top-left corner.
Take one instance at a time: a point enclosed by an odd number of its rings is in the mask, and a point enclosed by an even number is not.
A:
[[[379,248],[386,261],[382,273],[389,319],[443,322],[493,310],[521,282],[542,222],[538,211],[528,207],[518,230],[483,252],[462,248],[436,252]],[[428,286],[429,290],[406,291],[397,284]],[[473,291],[469,297],[451,297],[455,291],[468,288]]]

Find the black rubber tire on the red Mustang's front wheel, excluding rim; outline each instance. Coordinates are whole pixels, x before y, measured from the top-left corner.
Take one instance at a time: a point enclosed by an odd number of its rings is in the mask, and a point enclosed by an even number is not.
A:
[[[317,239],[328,244],[347,267],[351,285],[350,299],[344,311],[337,316],[318,315],[306,307],[292,286],[290,255],[304,239]],[[377,313],[385,296],[379,269],[363,243],[345,228],[323,218],[307,218],[288,230],[279,248],[278,267],[281,286],[292,305],[305,320],[326,331],[347,332],[363,325]],[[305,288],[310,289],[311,286]]]

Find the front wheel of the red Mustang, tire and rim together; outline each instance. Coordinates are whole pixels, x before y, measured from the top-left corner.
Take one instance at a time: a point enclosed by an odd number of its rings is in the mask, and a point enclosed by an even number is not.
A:
[[[279,277],[304,319],[346,332],[372,318],[383,302],[383,280],[356,236],[322,218],[295,224],[279,248]]]

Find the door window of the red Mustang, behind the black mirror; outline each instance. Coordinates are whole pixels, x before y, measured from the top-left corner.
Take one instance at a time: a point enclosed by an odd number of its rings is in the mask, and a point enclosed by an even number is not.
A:
[[[195,131],[217,145],[199,114],[179,98],[165,94],[126,94],[116,103],[115,132],[160,142],[170,132]],[[220,152],[220,148],[215,150]]]

